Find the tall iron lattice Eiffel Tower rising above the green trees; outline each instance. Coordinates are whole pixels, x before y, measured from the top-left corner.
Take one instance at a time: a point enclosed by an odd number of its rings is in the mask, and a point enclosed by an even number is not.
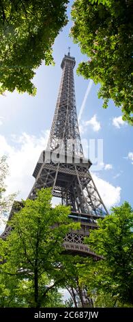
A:
[[[91,161],[83,156],[74,90],[75,58],[65,55],[61,62],[62,77],[59,86],[53,124],[48,145],[35,166],[35,184],[29,193],[35,199],[36,189],[53,188],[53,196],[71,206],[70,218],[80,221],[80,230],[65,236],[64,246],[70,253],[95,256],[83,244],[89,229],[97,227],[96,219],[107,214],[106,207],[93,182],[89,167]]]

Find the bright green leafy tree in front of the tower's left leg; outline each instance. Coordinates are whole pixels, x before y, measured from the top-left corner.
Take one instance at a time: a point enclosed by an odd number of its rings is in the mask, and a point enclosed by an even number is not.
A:
[[[70,207],[52,208],[51,198],[50,188],[45,188],[38,191],[35,200],[23,201],[23,208],[10,221],[10,236],[0,244],[1,277],[6,285],[7,276],[18,278],[18,284],[27,281],[25,303],[29,307],[46,306],[51,292],[63,284],[63,238],[79,227],[68,218]],[[24,292],[25,287],[21,288],[21,298]]]

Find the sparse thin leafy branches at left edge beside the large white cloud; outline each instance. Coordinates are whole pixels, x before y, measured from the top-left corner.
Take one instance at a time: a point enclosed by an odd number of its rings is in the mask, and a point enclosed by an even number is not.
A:
[[[0,224],[9,212],[15,197],[15,194],[9,196],[5,195],[5,178],[8,175],[8,164],[6,159],[7,158],[5,156],[0,158]]]

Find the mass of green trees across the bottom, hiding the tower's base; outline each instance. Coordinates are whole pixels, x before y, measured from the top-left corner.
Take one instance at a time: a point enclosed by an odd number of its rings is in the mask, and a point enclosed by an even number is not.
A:
[[[38,191],[35,200],[10,220],[12,231],[0,239],[0,306],[64,306],[59,288],[70,291],[74,306],[133,306],[133,211],[129,203],[98,219],[98,230],[85,238],[103,259],[65,253],[63,240],[80,228],[68,215],[70,207],[51,206],[50,188]],[[93,301],[92,301],[93,300]],[[71,303],[72,304],[72,303]],[[66,305],[69,305],[66,304]]]

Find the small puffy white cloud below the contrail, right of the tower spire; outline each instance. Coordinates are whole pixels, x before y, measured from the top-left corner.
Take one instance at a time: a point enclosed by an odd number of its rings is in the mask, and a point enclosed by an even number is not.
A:
[[[92,129],[94,132],[98,132],[100,129],[101,129],[101,125],[100,125],[100,122],[97,120],[97,115],[94,114],[90,120],[88,121],[82,121],[80,123],[80,132],[81,133],[84,133],[85,130],[87,129],[87,126],[88,125],[91,125],[92,126]]]

